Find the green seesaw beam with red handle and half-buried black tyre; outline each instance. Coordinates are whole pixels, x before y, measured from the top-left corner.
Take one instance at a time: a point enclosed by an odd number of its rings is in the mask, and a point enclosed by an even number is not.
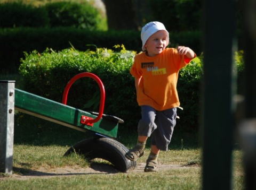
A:
[[[67,104],[71,85],[81,77],[91,77],[100,87],[99,113],[87,112]],[[118,117],[103,114],[105,104],[105,89],[98,76],[92,73],[75,75],[67,84],[62,97],[62,103],[55,102],[26,91],[15,89],[15,110],[39,117],[82,132],[91,132],[92,138],[82,140],[71,146],[64,156],[72,152],[84,154],[88,159],[102,158],[109,161],[122,172],[133,170],[137,162],[124,157],[128,149],[115,140],[118,124],[124,121]]]

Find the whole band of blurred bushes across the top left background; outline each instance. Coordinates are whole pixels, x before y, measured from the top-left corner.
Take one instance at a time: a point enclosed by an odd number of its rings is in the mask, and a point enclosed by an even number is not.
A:
[[[73,27],[97,30],[101,15],[88,2],[55,2],[42,6],[21,2],[0,3],[0,28]]]

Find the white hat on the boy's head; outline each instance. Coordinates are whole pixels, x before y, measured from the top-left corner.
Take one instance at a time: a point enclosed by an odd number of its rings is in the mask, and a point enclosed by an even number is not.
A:
[[[144,45],[146,44],[146,41],[148,40],[148,38],[156,33],[159,30],[165,30],[167,32],[167,45],[169,44],[169,32],[165,29],[164,24],[161,22],[149,22],[147,23],[141,30],[141,40],[142,40],[142,51],[146,51],[146,48],[144,47]]]

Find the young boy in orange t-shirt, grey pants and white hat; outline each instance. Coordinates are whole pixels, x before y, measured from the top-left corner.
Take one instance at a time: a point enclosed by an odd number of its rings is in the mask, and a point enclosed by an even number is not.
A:
[[[151,135],[151,152],[145,172],[157,171],[160,150],[167,151],[180,105],[176,89],[179,70],[196,57],[193,50],[169,45],[169,32],[161,22],[149,22],[141,30],[142,51],[134,57],[130,73],[135,77],[137,101],[141,106],[138,141],[125,154],[131,161],[143,155]]]

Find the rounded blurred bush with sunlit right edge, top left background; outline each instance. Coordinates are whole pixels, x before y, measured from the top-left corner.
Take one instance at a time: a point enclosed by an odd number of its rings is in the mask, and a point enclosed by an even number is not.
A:
[[[89,3],[56,2],[45,5],[51,27],[98,29],[100,14]]]

